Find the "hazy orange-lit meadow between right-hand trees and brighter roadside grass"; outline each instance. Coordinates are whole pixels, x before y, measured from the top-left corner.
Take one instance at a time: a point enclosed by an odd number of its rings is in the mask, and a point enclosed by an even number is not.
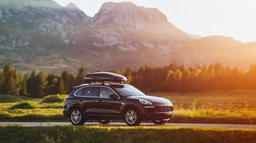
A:
[[[149,93],[170,99],[175,109],[256,110],[256,90],[208,91],[192,93]]]

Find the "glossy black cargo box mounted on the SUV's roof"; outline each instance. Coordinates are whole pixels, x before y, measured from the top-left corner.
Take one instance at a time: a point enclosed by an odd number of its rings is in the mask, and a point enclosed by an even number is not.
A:
[[[112,72],[96,72],[86,74],[84,80],[85,82],[125,82],[127,78]]]

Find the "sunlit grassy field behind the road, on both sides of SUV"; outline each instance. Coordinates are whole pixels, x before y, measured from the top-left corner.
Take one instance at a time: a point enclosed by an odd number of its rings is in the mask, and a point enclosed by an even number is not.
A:
[[[170,99],[175,107],[173,123],[256,124],[256,90],[209,91],[196,93],[149,93]],[[38,106],[32,109],[12,108],[21,101],[0,103],[1,121],[64,120],[62,106],[65,95],[55,103],[42,99],[31,100]]]

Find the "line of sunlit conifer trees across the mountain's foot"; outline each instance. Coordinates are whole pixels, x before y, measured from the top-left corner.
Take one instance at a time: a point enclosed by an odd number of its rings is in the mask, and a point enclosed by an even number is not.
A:
[[[97,72],[101,72],[98,70]],[[127,77],[126,83],[146,92],[197,92],[209,90],[256,89],[256,65],[245,72],[238,68],[224,67],[220,63],[210,66],[186,68],[177,63],[164,67],[140,67],[137,71],[127,68],[111,70]],[[61,75],[35,70],[17,72],[5,65],[0,71],[0,93],[41,98],[46,95],[68,94],[72,87],[84,84],[84,75],[90,73],[84,67],[76,75],[63,71]]]

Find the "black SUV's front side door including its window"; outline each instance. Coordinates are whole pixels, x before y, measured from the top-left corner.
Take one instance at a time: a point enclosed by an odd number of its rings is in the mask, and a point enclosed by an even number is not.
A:
[[[118,97],[110,87],[99,86],[99,97],[97,97],[98,102],[92,105],[94,109],[97,109],[95,110],[97,112],[95,114],[101,115],[104,119],[106,119],[106,117],[115,119],[115,117],[119,118],[121,116],[120,100],[119,98],[109,98],[109,95],[111,94],[115,94]]]

